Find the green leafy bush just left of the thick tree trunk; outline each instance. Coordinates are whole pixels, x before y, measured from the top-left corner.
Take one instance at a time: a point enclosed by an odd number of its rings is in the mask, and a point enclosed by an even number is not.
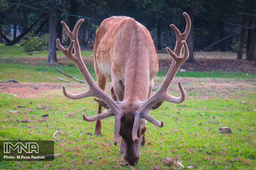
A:
[[[23,49],[25,52],[43,51],[48,49],[49,36],[44,35],[41,38],[29,34],[23,38]]]

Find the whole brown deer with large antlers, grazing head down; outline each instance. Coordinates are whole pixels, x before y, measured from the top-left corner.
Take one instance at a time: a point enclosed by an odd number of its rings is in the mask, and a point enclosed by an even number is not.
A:
[[[71,94],[62,86],[63,94],[70,99],[99,98],[94,99],[99,103],[98,114],[92,117],[83,114],[83,120],[96,121],[94,132],[101,135],[101,120],[114,116],[114,145],[121,138],[120,154],[124,155],[124,160],[130,165],[139,162],[140,146],[146,142],[146,122],[159,128],[164,126],[164,122],[150,116],[149,111],[160,107],[163,101],[179,104],[186,98],[180,82],[180,97],[167,94],[175,74],[189,55],[186,39],[191,21],[187,13],[184,12],[183,15],[187,23],[185,32],[180,33],[174,24],[170,25],[177,41],[174,52],[168,47],[166,50],[173,61],[163,83],[151,96],[154,78],[158,72],[158,58],[153,39],[146,27],[127,16],[111,16],[102,21],[95,34],[93,48],[97,86],[83,62],[77,38],[78,29],[84,19],[76,23],[73,32],[61,21],[71,43],[66,49],[57,39],[57,47],[76,64],[89,85],[89,90],[79,94]],[[110,89],[111,97],[105,92],[107,80],[113,85]],[[106,112],[101,113],[102,106],[107,108]]]

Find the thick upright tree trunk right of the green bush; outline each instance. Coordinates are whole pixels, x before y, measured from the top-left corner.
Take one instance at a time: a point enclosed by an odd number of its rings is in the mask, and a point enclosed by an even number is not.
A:
[[[57,63],[56,54],[56,6],[52,5],[49,11],[49,55],[48,63]]]

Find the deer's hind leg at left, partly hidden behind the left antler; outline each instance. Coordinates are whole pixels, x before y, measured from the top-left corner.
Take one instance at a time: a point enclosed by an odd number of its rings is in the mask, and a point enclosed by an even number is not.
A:
[[[101,88],[104,91],[105,87],[106,87],[106,83],[107,83],[107,78],[103,74],[98,73],[97,81],[98,81],[99,88]],[[101,112],[102,112],[102,106],[99,104],[98,114],[101,114]],[[101,136],[101,121],[100,120],[97,121],[95,124],[94,134]]]

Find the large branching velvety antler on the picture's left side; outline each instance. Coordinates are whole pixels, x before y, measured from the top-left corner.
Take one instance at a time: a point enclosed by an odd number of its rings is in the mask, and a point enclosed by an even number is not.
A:
[[[120,122],[121,122],[121,117],[123,116],[123,112],[122,112],[122,109],[119,108],[118,105],[115,103],[115,101],[108,94],[106,94],[105,91],[101,90],[97,86],[97,84],[93,81],[89,71],[87,70],[87,68],[84,64],[84,61],[81,56],[79,42],[77,39],[78,29],[79,29],[80,25],[83,23],[83,21],[84,21],[84,19],[81,19],[76,23],[73,32],[71,32],[69,30],[69,28],[65,22],[61,21],[61,24],[63,25],[64,29],[66,30],[66,32],[71,40],[71,43],[70,43],[69,47],[67,49],[65,49],[60,44],[60,40],[57,39],[57,47],[63,54],[65,54],[70,60],[72,60],[76,64],[78,70],[82,73],[84,79],[87,81],[87,83],[89,85],[89,90],[87,90],[85,92],[81,92],[80,94],[70,94],[67,91],[66,87],[62,86],[63,94],[70,99],[82,99],[82,98],[94,96],[94,97],[98,97],[99,99],[103,100],[109,107],[108,112],[102,113],[102,114],[99,114],[96,116],[92,116],[92,117],[86,117],[85,115],[83,115],[83,118],[87,122],[92,122],[92,121],[98,121],[98,120],[101,120],[103,118],[107,118],[110,116],[115,116],[114,143],[116,145],[118,138],[119,138]],[[73,53],[73,49],[74,49],[74,53]]]

